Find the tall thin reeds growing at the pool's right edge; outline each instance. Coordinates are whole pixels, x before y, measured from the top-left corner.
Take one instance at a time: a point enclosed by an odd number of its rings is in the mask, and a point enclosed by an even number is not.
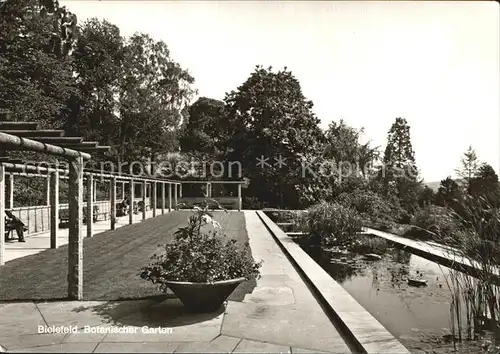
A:
[[[499,209],[484,198],[466,196],[460,213],[454,216],[461,230],[455,235],[458,246],[450,252],[458,259],[468,259],[479,271],[475,278],[458,271],[450,274],[453,341],[471,340],[489,329],[499,344],[500,284],[493,276],[498,274],[500,263]]]

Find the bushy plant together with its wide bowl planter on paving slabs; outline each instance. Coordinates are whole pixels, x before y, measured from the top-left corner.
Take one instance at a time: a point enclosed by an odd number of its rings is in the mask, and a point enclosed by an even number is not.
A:
[[[203,207],[193,208],[188,225],[175,232],[165,252],[154,254],[153,263],[140,274],[163,292],[170,288],[190,312],[217,311],[239,284],[260,277],[261,262],[253,260],[249,244],[219,233],[210,204],[227,212],[206,198]]]

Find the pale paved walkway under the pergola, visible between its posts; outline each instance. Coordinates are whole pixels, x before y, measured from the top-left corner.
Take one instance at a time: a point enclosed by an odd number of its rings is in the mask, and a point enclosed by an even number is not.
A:
[[[165,210],[165,213],[168,213],[168,209]],[[161,215],[161,209],[156,210],[156,215]],[[153,217],[153,211],[146,211],[146,219]],[[133,215],[133,223],[138,223],[142,221],[142,212],[139,214]],[[129,216],[121,216],[116,218],[115,228],[120,228],[122,226],[129,225]],[[92,234],[98,234],[104,231],[108,231],[111,229],[110,220],[100,220],[94,223]],[[84,236],[87,235],[87,227],[84,224],[82,229]],[[50,232],[41,232],[33,235],[27,235],[25,237],[26,242],[18,242],[17,235],[14,232],[14,237],[16,239],[7,241],[5,243],[5,261],[11,261],[16,258],[26,257],[32,254],[36,254],[42,252],[46,249],[50,249]],[[60,228],[57,241],[59,246],[65,245],[68,243],[68,229]]]

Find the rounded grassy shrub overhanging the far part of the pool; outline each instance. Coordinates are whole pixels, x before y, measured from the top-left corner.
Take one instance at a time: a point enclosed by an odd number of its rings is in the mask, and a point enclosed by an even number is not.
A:
[[[301,224],[303,231],[320,239],[323,247],[349,245],[362,226],[356,210],[327,202],[309,208]]]

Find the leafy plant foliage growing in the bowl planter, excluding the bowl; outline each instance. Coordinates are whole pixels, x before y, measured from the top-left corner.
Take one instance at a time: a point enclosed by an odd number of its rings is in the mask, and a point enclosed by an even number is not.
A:
[[[256,263],[248,243],[239,245],[217,231],[202,232],[205,225],[220,228],[208,212],[195,207],[186,227],[179,228],[175,240],[165,245],[165,253],[151,257],[152,264],[142,268],[141,277],[165,291],[167,281],[211,283],[244,277],[259,277],[261,263]]]

